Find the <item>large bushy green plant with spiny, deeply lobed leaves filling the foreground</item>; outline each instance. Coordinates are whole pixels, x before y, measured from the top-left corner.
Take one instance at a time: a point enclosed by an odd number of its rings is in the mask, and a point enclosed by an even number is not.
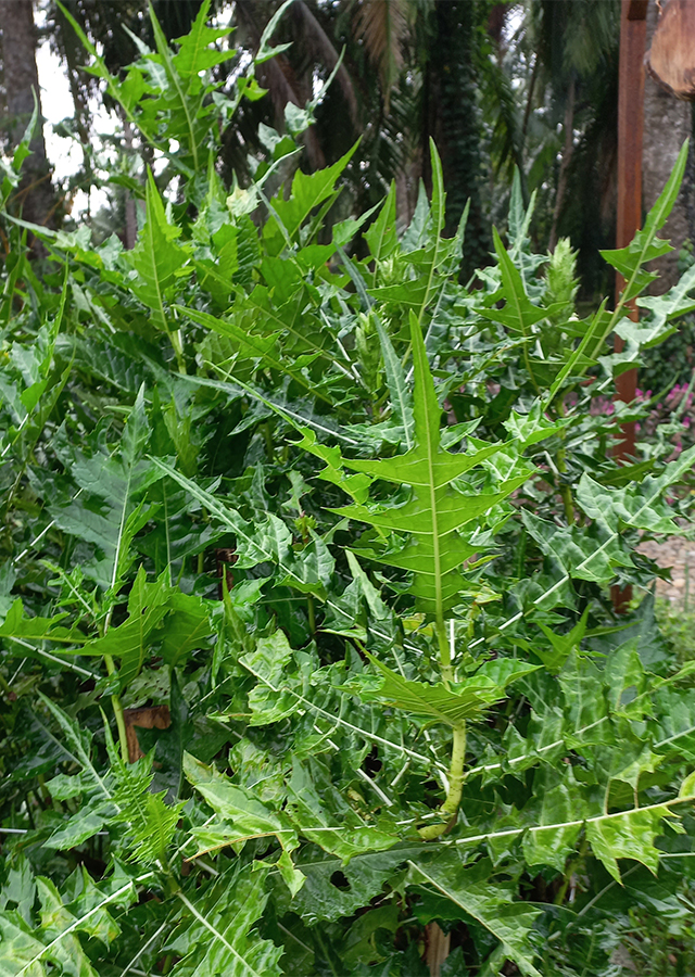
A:
[[[178,134],[136,248],[37,230],[39,276],[12,230],[2,969],[412,977],[437,922],[443,973],[615,973],[692,880],[694,669],[635,547],[693,449],[623,467],[639,411],[589,408],[691,302],[622,314],[685,156],[606,254],[615,310],[578,318],[520,180],[468,289],[434,147],[409,227],[392,189],[332,239],[358,150],[267,194],[289,137],[247,190],[193,166],[229,111],[205,17],[109,80]]]

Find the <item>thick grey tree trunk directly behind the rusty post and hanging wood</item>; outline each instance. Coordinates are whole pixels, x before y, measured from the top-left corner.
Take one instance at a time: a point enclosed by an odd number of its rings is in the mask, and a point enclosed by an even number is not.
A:
[[[658,20],[656,3],[647,8],[647,47],[656,29]],[[649,75],[644,80],[644,149],[642,154],[642,205],[648,211],[664,189],[671,175],[684,140],[692,135],[692,106],[681,102],[661,88]],[[649,268],[658,271],[660,278],[649,288],[652,294],[662,294],[678,281],[678,256],[683,242],[692,237],[688,214],[693,204],[693,150],[685,172],[685,179],[671,216],[661,231],[675,251],[650,262]]]

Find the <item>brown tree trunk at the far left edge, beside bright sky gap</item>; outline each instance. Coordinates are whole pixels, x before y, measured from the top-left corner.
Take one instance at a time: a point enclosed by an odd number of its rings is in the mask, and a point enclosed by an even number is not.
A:
[[[0,0],[0,30],[8,106],[5,127],[12,149],[21,142],[31,118],[35,92],[39,104],[39,119],[29,143],[31,155],[24,162],[22,182],[13,200],[25,220],[51,227],[56,201],[43,139],[31,0]]]

